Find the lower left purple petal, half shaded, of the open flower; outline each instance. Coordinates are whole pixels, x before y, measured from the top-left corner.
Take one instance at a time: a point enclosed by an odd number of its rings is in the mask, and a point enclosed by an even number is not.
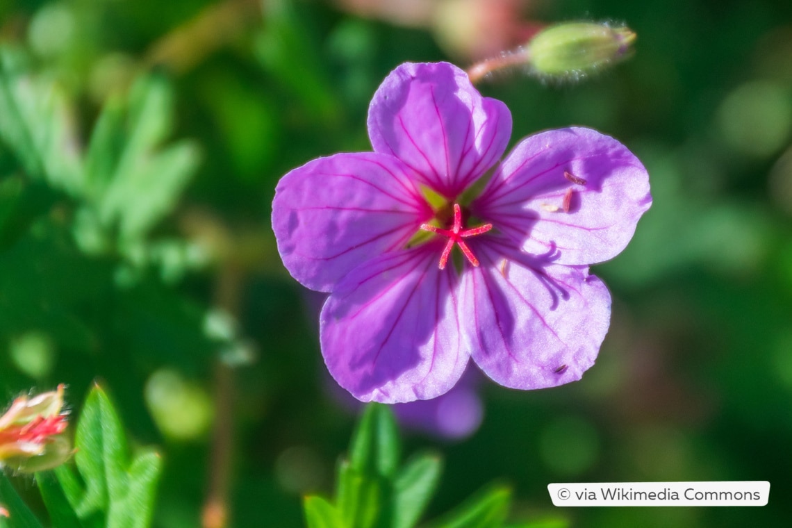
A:
[[[322,355],[360,401],[426,400],[462,376],[469,355],[461,346],[457,278],[437,267],[439,253],[429,242],[361,264],[327,299]]]

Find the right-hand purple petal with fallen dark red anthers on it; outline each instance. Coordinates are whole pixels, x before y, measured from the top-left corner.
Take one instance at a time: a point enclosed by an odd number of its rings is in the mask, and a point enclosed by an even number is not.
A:
[[[595,264],[624,249],[651,204],[649,174],[626,146],[563,128],[520,142],[470,210],[527,253]]]

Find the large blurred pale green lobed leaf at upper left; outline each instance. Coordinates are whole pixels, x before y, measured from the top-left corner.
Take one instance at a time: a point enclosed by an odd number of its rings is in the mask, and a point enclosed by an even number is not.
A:
[[[21,62],[0,47],[0,146],[31,179],[82,200],[75,226],[82,249],[108,249],[110,234],[122,246],[145,237],[173,209],[200,160],[193,142],[161,146],[173,127],[169,82],[142,76],[128,97],[110,98],[83,159],[63,93],[43,76],[28,76]]]

